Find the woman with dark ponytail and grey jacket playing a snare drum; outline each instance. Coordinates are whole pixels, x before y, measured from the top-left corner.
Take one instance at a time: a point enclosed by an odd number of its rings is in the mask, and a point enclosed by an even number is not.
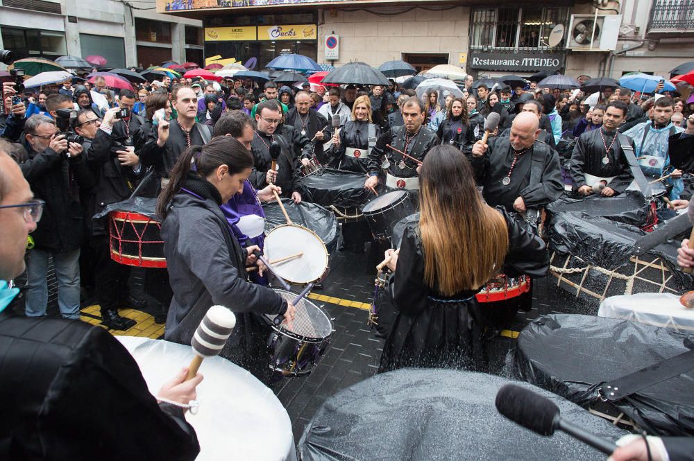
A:
[[[157,203],[174,292],[164,339],[190,344],[210,306],[230,308],[237,324],[220,355],[270,383],[267,331],[251,313],[281,314],[290,322],[295,309],[270,288],[248,281],[247,266],[264,269],[251,254],[258,247],[244,249],[219,209],[242,192],[252,167],[253,156],[242,143],[217,137],[185,150],[171,170]]]

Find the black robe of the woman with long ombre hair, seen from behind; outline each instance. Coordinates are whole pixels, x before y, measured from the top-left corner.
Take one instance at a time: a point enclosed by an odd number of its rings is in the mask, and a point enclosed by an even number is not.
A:
[[[503,272],[545,277],[549,255],[544,241],[525,223],[499,209],[509,229],[509,252]],[[464,229],[461,229],[464,232]],[[379,324],[390,333],[383,346],[379,372],[403,367],[482,367],[484,328],[475,293],[441,295],[424,281],[424,250],[416,228],[405,229],[396,272],[385,288]],[[463,270],[463,269],[462,269]]]

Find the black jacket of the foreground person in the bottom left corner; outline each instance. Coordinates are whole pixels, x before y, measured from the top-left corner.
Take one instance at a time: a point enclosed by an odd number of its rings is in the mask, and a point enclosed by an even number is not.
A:
[[[0,363],[3,460],[194,460],[200,451],[183,411],[158,405],[102,328],[2,313]]]

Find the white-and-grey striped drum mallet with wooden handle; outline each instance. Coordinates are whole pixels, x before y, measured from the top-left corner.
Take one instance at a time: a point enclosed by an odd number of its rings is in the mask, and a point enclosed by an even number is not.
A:
[[[235,326],[236,316],[228,308],[212,306],[208,309],[190,340],[195,356],[188,365],[185,381],[193,379],[198,374],[203,358],[219,355]]]

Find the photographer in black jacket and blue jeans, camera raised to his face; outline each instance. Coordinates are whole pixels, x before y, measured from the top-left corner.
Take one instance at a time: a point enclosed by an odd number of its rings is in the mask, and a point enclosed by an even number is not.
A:
[[[51,96],[60,96],[62,94]],[[67,99],[67,98],[66,98]],[[68,100],[69,101],[69,100]],[[46,105],[51,103],[51,97]],[[71,104],[70,104],[71,105]],[[74,111],[51,110],[58,123],[69,126]],[[67,117],[65,116],[67,115]],[[66,123],[67,122],[67,123]],[[83,207],[79,191],[90,190],[94,177],[82,156],[82,146],[59,134],[56,121],[45,115],[26,119],[22,144],[29,158],[20,165],[36,198],[44,200],[43,219],[33,233],[35,247],[27,258],[26,315],[46,315],[49,256],[58,279],[58,306],[64,318],[78,319],[80,309],[80,245]]]

